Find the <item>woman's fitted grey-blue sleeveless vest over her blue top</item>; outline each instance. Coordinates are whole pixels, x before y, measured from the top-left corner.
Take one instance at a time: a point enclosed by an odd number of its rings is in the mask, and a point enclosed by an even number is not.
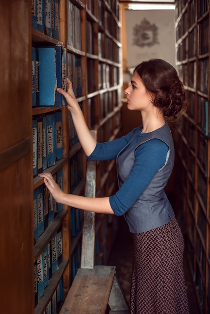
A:
[[[139,132],[138,129],[133,137]],[[117,156],[117,173],[119,187],[129,176],[134,165],[135,149],[144,142],[157,138],[164,141],[168,147],[165,165],[153,177],[147,188],[139,196],[135,204],[125,213],[125,218],[132,233],[145,232],[165,225],[173,219],[174,212],[164,192],[174,165],[174,145],[170,128],[167,123],[157,130],[148,133],[134,146],[125,150],[124,147]],[[151,151],[152,153],[152,151]],[[154,155],[155,159],[155,155]]]

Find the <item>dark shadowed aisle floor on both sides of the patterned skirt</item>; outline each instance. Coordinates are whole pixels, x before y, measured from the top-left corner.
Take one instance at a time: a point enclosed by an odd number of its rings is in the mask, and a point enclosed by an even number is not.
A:
[[[125,297],[130,302],[130,280],[132,272],[132,260],[133,260],[133,237],[128,230],[128,226],[125,222],[124,217],[117,217],[119,220],[119,231],[114,242],[109,265],[116,266],[117,278],[120,282]],[[189,274],[189,267],[187,264],[186,256],[184,255],[184,271],[185,271],[185,282],[189,301],[189,313],[200,314],[197,309],[195,302],[195,295],[191,278]],[[184,313],[183,313],[184,314]]]

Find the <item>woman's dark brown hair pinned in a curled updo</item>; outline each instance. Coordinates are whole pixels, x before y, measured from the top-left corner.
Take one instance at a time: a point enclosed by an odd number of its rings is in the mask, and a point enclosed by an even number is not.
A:
[[[153,103],[162,108],[165,117],[176,117],[187,109],[182,82],[175,68],[162,59],[143,61],[134,70],[146,89],[153,93]]]

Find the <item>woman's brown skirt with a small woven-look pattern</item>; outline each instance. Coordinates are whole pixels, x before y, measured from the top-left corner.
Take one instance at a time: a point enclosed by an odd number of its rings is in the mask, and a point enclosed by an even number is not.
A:
[[[184,241],[176,219],[133,236],[131,314],[188,314]]]

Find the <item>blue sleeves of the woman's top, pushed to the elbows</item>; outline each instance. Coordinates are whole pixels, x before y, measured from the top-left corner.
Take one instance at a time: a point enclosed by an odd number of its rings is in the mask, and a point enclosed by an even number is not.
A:
[[[133,146],[147,135],[147,133],[141,133],[142,126],[138,128],[139,132],[137,132],[128,147]],[[117,158],[118,153],[128,144],[138,128],[133,129],[119,139],[110,142],[97,142],[95,149],[87,156],[87,159],[104,161]],[[135,163],[130,175],[117,193],[110,197],[110,205],[115,215],[124,215],[136,202],[157,171],[165,165],[167,152],[168,146],[166,143],[155,138],[137,147],[135,150]]]

